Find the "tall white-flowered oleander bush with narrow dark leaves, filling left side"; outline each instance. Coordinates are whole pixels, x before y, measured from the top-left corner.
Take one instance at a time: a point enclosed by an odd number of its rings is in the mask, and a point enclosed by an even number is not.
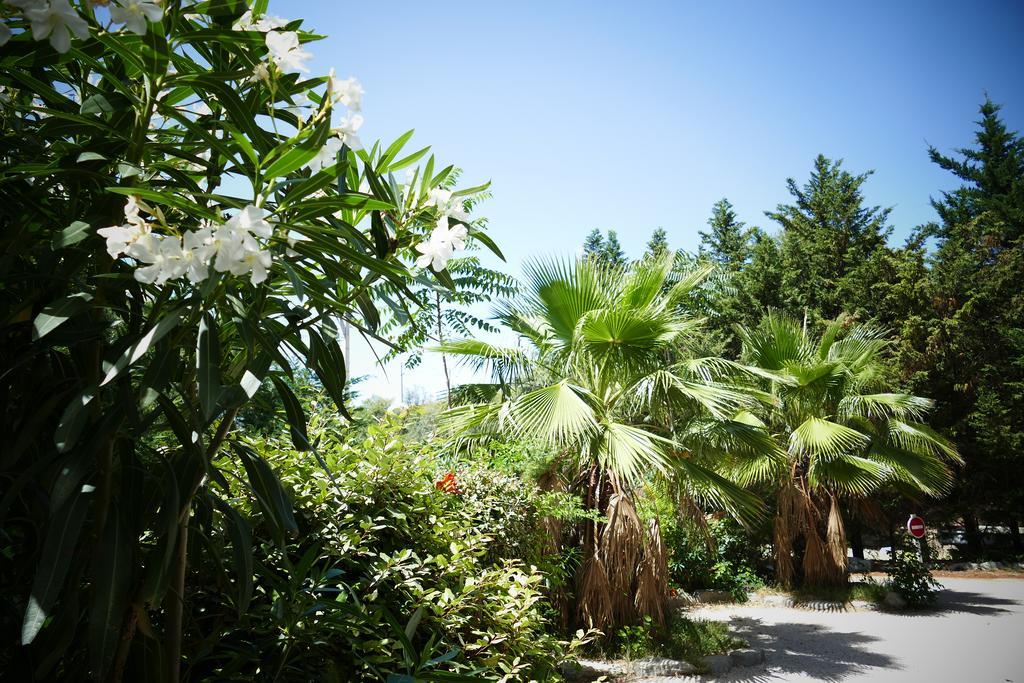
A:
[[[414,284],[460,287],[445,267],[468,243],[497,251],[467,213],[482,186],[406,152],[412,131],[364,145],[358,81],[309,74],[321,37],[266,8],[0,5],[5,677],[287,677],[303,647],[282,636],[334,579],[319,550],[292,556],[301,516],[240,427],[287,422],[308,451],[293,368],[344,414],[344,335],[408,317]],[[281,626],[233,632],[256,673],[225,661],[225,604]]]

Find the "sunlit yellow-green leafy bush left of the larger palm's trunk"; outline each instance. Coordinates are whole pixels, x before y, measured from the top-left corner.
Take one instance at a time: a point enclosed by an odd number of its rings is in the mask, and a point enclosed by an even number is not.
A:
[[[436,460],[394,431],[371,427],[359,444],[329,439],[317,452],[323,463],[274,440],[252,444],[294,492],[299,533],[284,549],[255,550],[244,613],[231,608],[238,585],[216,561],[234,541],[225,541],[227,529],[211,535],[215,552],[189,609],[203,614],[188,634],[190,678],[428,679],[443,671],[543,680],[572,650],[549,634],[542,573],[504,555],[519,552],[511,535],[528,520],[523,487],[467,471],[457,493],[442,490]],[[236,503],[259,537],[274,535],[257,498]],[[495,544],[499,535],[509,537],[504,545]]]

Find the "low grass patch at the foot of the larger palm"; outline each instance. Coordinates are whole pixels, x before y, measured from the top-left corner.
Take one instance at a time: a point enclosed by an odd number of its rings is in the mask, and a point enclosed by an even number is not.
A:
[[[609,659],[663,656],[698,664],[709,654],[722,654],[745,645],[729,632],[725,623],[674,615],[664,628],[646,621],[620,629],[600,654]]]

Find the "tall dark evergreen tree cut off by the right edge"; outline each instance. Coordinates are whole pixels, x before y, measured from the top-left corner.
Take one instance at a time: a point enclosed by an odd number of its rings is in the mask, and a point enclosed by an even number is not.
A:
[[[1015,530],[1024,519],[1024,139],[998,112],[986,99],[975,145],[958,158],[929,151],[964,184],[933,201],[939,221],[918,236],[937,240],[932,306],[901,355],[907,376],[939,398],[939,426],[967,461],[952,502],[977,552],[979,516]]]

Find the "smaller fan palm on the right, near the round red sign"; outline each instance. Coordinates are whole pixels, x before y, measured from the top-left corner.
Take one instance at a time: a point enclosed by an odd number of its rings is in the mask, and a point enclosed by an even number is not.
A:
[[[746,419],[764,425],[784,453],[735,472],[746,483],[771,482],[777,493],[776,579],[795,583],[794,551],[803,541],[804,583],[844,584],[841,503],[863,503],[885,486],[939,496],[959,457],[923,422],[933,401],[886,392],[890,342],[880,331],[841,317],[812,337],[797,321],[769,313],[737,333],[748,376],[766,392],[762,410]]]

